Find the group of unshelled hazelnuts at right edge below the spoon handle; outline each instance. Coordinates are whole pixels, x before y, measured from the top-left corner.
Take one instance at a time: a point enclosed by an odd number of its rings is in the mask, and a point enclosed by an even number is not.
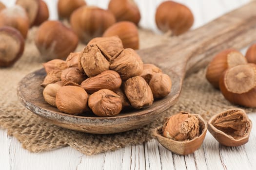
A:
[[[206,79],[229,102],[256,107],[256,44],[245,56],[235,49],[219,52],[207,68]]]

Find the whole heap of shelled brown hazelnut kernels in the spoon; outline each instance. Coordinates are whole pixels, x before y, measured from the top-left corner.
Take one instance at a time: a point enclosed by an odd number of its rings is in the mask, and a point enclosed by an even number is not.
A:
[[[91,109],[100,117],[116,116],[130,106],[150,106],[171,91],[170,77],[153,64],[143,64],[118,36],[94,38],[66,61],[54,59],[43,66],[43,97],[67,114]]]

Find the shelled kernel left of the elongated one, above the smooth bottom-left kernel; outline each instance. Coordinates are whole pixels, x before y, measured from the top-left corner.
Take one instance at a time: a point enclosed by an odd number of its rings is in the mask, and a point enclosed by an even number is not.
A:
[[[80,85],[87,77],[79,68],[67,68],[61,72],[60,78],[63,84],[74,82]]]

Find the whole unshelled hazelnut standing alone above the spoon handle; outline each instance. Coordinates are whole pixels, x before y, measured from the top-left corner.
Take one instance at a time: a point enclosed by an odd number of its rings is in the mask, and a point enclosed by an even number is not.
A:
[[[164,1],[158,6],[155,19],[159,30],[171,30],[175,35],[187,32],[194,23],[191,10],[171,0]]]

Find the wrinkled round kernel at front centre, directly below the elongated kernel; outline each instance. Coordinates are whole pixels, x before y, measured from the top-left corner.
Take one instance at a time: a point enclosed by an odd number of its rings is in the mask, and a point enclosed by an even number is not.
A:
[[[108,89],[102,89],[89,97],[89,107],[99,117],[111,117],[118,115],[122,110],[120,96]]]

